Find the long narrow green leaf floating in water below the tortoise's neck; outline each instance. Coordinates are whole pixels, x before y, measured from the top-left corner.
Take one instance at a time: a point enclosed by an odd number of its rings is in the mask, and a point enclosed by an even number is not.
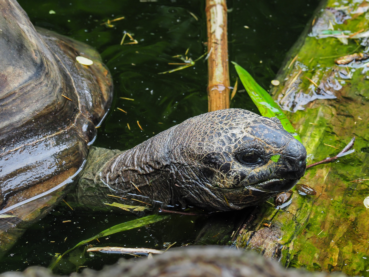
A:
[[[60,259],[67,253],[69,253],[70,251],[72,251],[73,249],[75,249],[76,247],[85,244],[87,242],[90,242],[94,239],[98,239],[99,237],[105,237],[108,235],[112,235],[118,232],[122,232],[122,231],[126,231],[126,230],[130,230],[130,229],[134,229],[134,228],[138,228],[138,227],[142,227],[144,225],[148,225],[151,223],[155,223],[158,221],[161,221],[163,219],[169,218],[169,216],[163,216],[163,215],[149,215],[149,216],[145,216],[144,218],[139,218],[139,219],[135,219],[135,220],[131,220],[128,222],[124,222],[118,225],[115,225],[113,227],[110,227],[109,229],[106,229],[104,231],[102,231],[101,233],[97,234],[96,236],[90,237],[89,239],[86,240],[82,240],[82,242],[76,244],[73,248],[67,250],[66,252],[64,252],[62,255],[59,255],[59,257],[54,261],[54,263],[51,264],[51,266],[49,267],[51,270],[54,269],[54,267],[56,266],[56,264],[58,264],[58,262],[60,261]]]

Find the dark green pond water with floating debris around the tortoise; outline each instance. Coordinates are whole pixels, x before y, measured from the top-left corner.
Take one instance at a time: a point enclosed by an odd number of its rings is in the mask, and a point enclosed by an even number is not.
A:
[[[203,0],[20,0],[19,3],[34,25],[92,45],[109,67],[114,79],[113,106],[98,129],[95,146],[129,149],[189,117],[207,112],[206,62],[200,60],[193,67],[158,75],[175,68],[168,62],[181,62],[172,56],[184,54],[187,48],[190,48],[188,57],[193,60],[206,52]],[[318,0],[229,0],[227,4],[230,61],[243,66],[257,82],[269,89],[270,81],[311,17]],[[50,10],[55,14],[50,14]],[[100,25],[107,19],[122,16],[125,18],[112,23],[115,25],[112,28]],[[249,28],[244,28],[245,25]],[[132,34],[138,44],[120,45],[124,32]],[[125,42],[130,41],[126,38]],[[233,66],[230,66],[230,75],[231,84],[234,84],[236,72]],[[257,112],[242,85],[238,90],[231,107]],[[70,198],[66,199],[69,201]],[[70,204],[73,206],[72,202]],[[237,223],[242,213],[218,213],[212,219],[228,218]],[[60,204],[28,229],[0,260],[0,272],[23,270],[30,265],[48,266],[55,253],[63,253],[81,240],[135,218],[134,215],[115,213],[115,210],[93,212],[75,207],[72,211]],[[71,222],[62,223],[64,220]],[[161,249],[164,242],[177,242],[176,246],[181,246],[194,243],[207,222],[203,217],[173,215],[162,222],[118,233],[107,240],[101,239],[100,244],[97,241],[93,244]],[[229,235],[235,229],[230,228]],[[68,274],[84,268],[80,266],[100,269],[121,257],[103,253],[90,257],[83,250],[81,247],[66,257],[58,272]]]

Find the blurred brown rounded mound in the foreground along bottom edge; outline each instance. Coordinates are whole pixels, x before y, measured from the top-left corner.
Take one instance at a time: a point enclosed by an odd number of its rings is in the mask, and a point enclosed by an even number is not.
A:
[[[154,256],[154,259],[121,259],[112,266],[95,271],[86,269],[71,277],[324,277],[329,273],[284,269],[276,261],[241,250],[220,246],[182,247]],[[51,277],[56,276],[44,267],[29,267],[23,272],[13,271],[0,277]],[[59,275],[60,276],[60,275]],[[341,276],[343,274],[334,274]]]

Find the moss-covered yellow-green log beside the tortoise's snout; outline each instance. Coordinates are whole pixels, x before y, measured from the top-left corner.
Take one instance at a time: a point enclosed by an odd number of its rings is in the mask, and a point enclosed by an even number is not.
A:
[[[349,3],[342,0],[326,2],[326,7],[343,6],[349,6],[344,11],[350,12],[351,19],[337,24],[333,16],[334,30],[349,30],[353,34],[369,29],[369,13],[365,12],[369,3],[354,0]],[[353,13],[359,8],[364,13]],[[319,20],[324,23],[325,20],[329,24],[331,11],[329,8],[320,10],[314,23],[318,24]],[[309,28],[308,33],[311,24]],[[313,187],[317,194],[303,196],[293,189],[292,203],[275,215],[269,228],[265,226],[268,224],[264,225],[268,223],[265,220],[270,220],[277,210],[268,203],[259,206],[255,219],[248,220],[239,231],[235,239],[238,247],[280,259],[286,267],[369,276],[369,209],[363,205],[363,200],[369,196],[369,181],[351,182],[369,179],[369,72],[364,72],[363,68],[354,72],[349,67],[352,78],[346,82],[338,81],[342,79],[339,71],[347,72],[347,69],[334,63],[339,55],[354,50],[362,52],[365,49],[359,45],[362,41],[362,38],[348,38],[345,45],[334,37],[305,36],[290,52],[289,60],[277,76],[281,83],[272,88],[271,94],[274,99],[282,100],[280,104],[284,109],[293,111],[286,115],[307,149],[307,164],[333,157],[354,136],[356,151],[335,163],[308,169],[300,183]],[[288,68],[296,54],[296,61]],[[330,56],[337,57],[321,58]],[[337,98],[316,99],[298,110],[303,96],[312,99],[314,92],[318,92],[306,77],[321,88],[329,88],[327,90]],[[290,89],[292,92],[287,93]]]

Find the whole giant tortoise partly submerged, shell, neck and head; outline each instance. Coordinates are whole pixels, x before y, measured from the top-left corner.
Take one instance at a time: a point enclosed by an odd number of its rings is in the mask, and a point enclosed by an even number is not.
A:
[[[126,151],[90,146],[113,91],[99,54],[36,30],[15,0],[0,8],[1,250],[72,187],[91,205],[134,195],[225,211],[288,191],[303,176],[304,146],[278,119],[242,109],[195,116]]]

